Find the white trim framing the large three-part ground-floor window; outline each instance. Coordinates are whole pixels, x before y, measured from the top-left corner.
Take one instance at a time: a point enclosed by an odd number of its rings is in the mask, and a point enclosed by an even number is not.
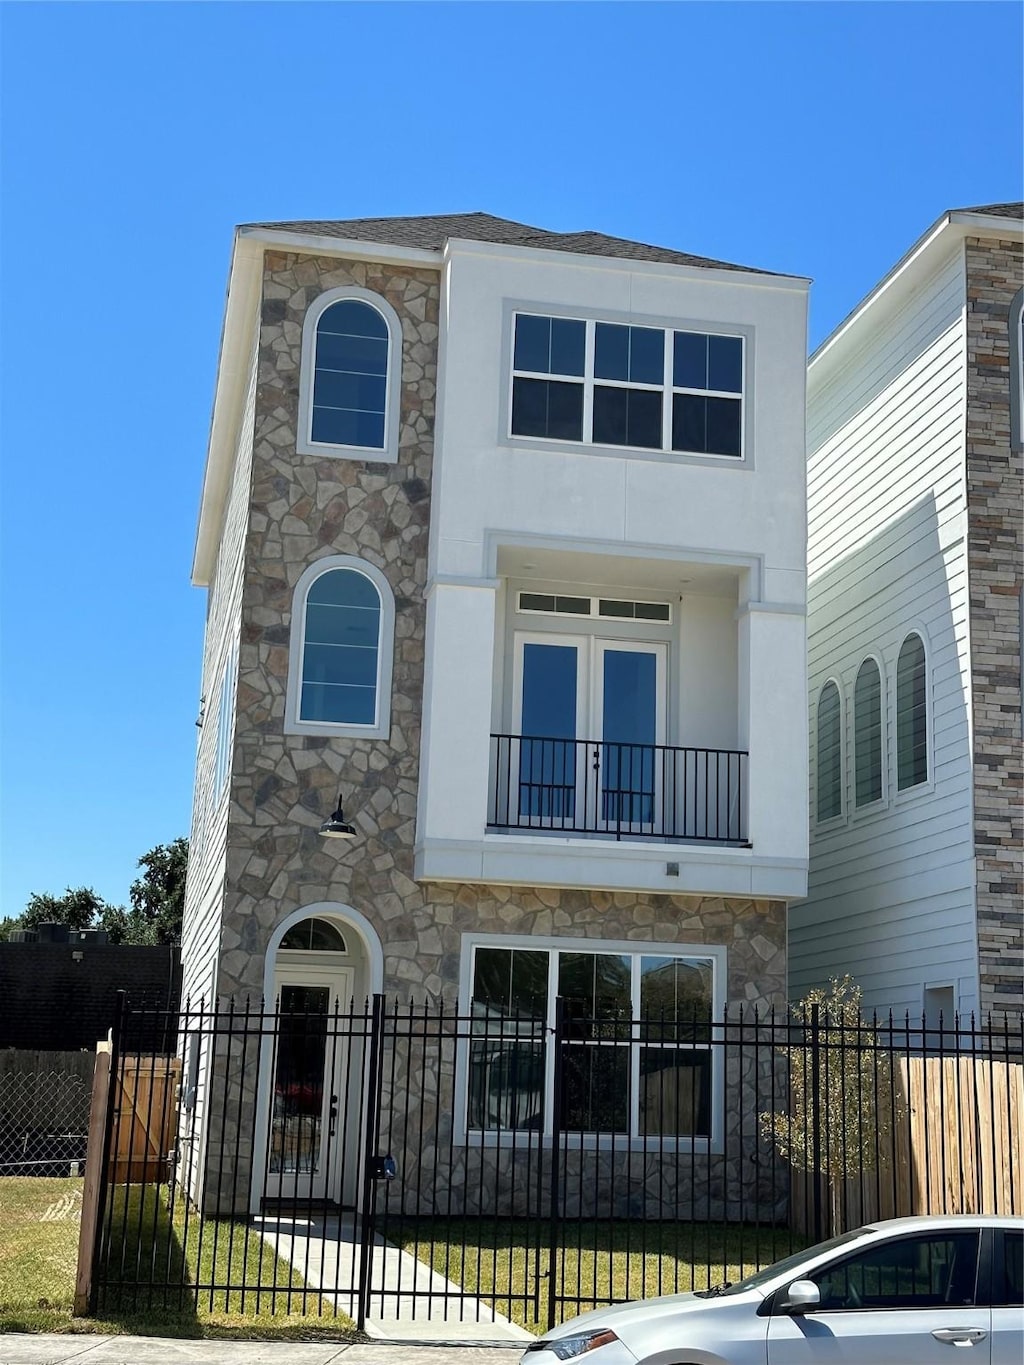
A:
[[[614,1151],[614,1152],[646,1152],[649,1155],[659,1155],[662,1152],[703,1152],[703,1153],[720,1153],[724,1151],[724,1108],[725,1108],[725,1054],[721,1046],[724,1037],[722,1016],[725,1011],[725,988],[726,988],[726,957],[728,950],[722,945],[710,943],[649,943],[638,942],[635,939],[576,939],[576,938],[553,938],[541,934],[463,934],[461,936],[461,953],[459,965],[459,1014],[461,1017],[468,1017],[471,1013],[472,1001],[472,966],[475,950],[478,947],[496,947],[496,949],[532,949],[537,951],[546,951],[552,954],[549,957],[549,998],[547,1009],[549,1011],[554,1009],[554,994],[553,983],[557,981],[556,958],[554,953],[613,953],[623,954],[631,958],[638,958],[643,956],[651,957],[679,957],[679,958],[703,958],[711,962],[711,1036],[707,1043],[707,1051],[711,1054],[711,1132],[709,1137],[669,1137],[669,1136],[651,1136],[640,1137],[635,1136],[636,1130],[636,1106],[638,1096],[634,1093],[635,1087],[632,1085],[634,1078],[634,1058],[632,1054],[639,1048],[639,1041],[634,1040],[629,1043],[631,1048],[631,1065],[629,1065],[629,1078],[631,1078],[631,1097],[629,1097],[629,1129],[631,1134],[624,1133],[563,1133],[561,1141],[569,1149],[583,1149],[583,1151]],[[634,971],[635,980],[635,971]],[[550,1036],[553,1029],[550,1025],[545,1028],[545,1036]],[[482,1130],[470,1129],[467,1122],[468,1112],[468,1089],[470,1089],[470,1043],[471,1036],[467,1031],[461,1032],[459,1037],[457,1051],[456,1051],[456,1117],[455,1117],[455,1143],[457,1145],[467,1145],[470,1138],[472,1138],[474,1147],[512,1147],[522,1149],[526,1147],[545,1147],[552,1145],[552,1108],[553,1108],[553,1087],[554,1087],[554,1054],[550,1048],[545,1048],[545,1126],[543,1132],[538,1133],[532,1129],[516,1129],[512,1130]],[[694,1051],[703,1050],[702,1044],[694,1044]]]

